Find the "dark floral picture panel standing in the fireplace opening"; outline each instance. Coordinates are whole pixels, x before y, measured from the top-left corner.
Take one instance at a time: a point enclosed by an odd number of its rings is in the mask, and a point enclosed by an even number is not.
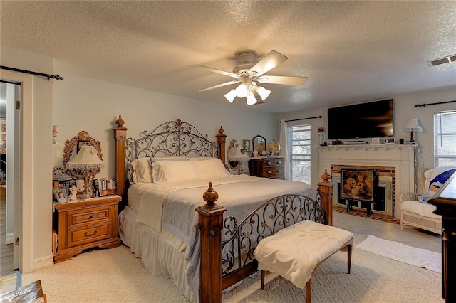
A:
[[[341,169],[341,198],[373,202],[375,171]]]

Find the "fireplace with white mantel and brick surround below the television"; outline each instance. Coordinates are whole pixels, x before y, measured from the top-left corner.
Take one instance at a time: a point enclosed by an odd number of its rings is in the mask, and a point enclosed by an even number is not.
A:
[[[331,181],[335,185],[333,206],[346,206],[346,200],[340,198],[341,169],[368,169],[375,171],[380,193],[374,201],[374,212],[385,213],[391,218],[400,217],[400,213],[395,211],[396,197],[403,191],[413,191],[415,187],[415,146],[331,145],[318,147],[318,156],[319,171],[331,171]]]

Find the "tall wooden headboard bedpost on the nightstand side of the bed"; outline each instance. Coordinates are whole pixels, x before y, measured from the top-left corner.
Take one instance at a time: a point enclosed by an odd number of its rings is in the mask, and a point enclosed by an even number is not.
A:
[[[114,131],[114,175],[117,181],[117,193],[119,196],[124,196],[125,191],[125,177],[127,176],[127,164],[125,154],[125,140],[127,139],[127,129],[123,127],[125,122],[122,116],[115,121],[117,127],[113,127]]]

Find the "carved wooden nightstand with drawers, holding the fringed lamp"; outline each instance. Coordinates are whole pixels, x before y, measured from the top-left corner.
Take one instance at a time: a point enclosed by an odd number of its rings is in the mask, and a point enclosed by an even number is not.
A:
[[[54,262],[69,260],[88,248],[119,246],[117,206],[121,199],[115,195],[56,204],[53,226],[58,249]]]

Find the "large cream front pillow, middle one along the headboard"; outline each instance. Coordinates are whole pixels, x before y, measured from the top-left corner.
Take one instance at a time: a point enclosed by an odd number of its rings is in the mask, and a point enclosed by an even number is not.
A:
[[[157,161],[152,163],[152,179],[156,184],[199,180],[194,161]]]

